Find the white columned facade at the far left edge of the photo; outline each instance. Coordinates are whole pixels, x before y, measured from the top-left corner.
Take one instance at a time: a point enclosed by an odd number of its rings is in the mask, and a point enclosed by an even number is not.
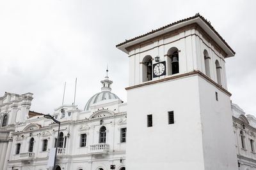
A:
[[[13,146],[12,132],[29,117],[33,94],[13,94],[5,92],[0,97],[0,169],[6,169]]]

